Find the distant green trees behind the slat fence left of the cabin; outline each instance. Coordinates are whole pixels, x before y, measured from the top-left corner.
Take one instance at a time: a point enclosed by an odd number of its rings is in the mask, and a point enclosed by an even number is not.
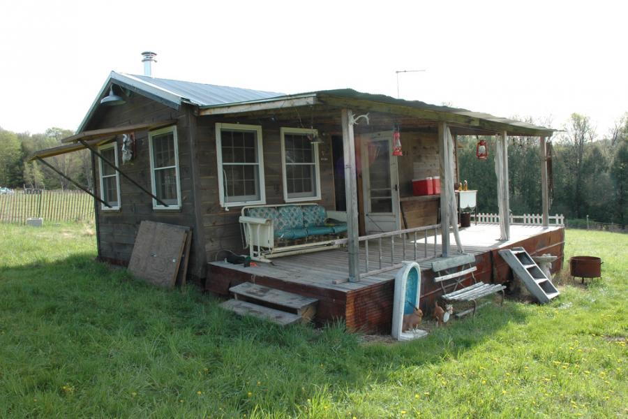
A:
[[[48,128],[44,133],[36,134],[14,133],[0,128],[0,186],[75,189],[67,179],[49,168],[42,167],[36,161],[27,161],[33,152],[61,145],[61,140],[70,135],[73,135],[73,131],[62,128]],[[63,175],[89,188],[93,187],[89,151],[60,154],[46,161]]]

